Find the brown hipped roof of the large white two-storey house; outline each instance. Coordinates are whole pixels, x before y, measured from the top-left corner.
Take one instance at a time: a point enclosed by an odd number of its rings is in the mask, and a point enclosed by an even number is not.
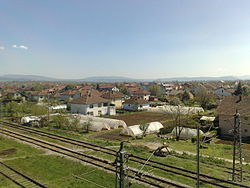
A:
[[[73,99],[70,103],[71,104],[96,104],[96,103],[106,103],[108,102],[107,99],[99,97],[97,95],[87,94],[81,96],[80,98]]]

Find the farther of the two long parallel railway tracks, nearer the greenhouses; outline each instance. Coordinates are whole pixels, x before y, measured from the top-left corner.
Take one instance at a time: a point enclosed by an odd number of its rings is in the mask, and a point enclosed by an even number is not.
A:
[[[33,134],[40,135],[40,136],[45,136],[45,137],[48,137],[50,139],[59,140],[61,142],[73,144],[76,146],[81,146],[81,147],[88,148],[88,149],[91,149],[93,151],[102,152],[102,153],[105,153],[108,155],[116,156],[116,154],[117,154],[116,150],[102,147],[102,146],[98,146],[96,144],[91,144],[88,142],[84,142],[84,141],[80,141],[80,140],[76,140],[76,139],[71,139],[71,138],[67,138],[64,136],[55,135],[52,133],[46,133],[46,132],[43,132],[40,130],[35,130],[35,129],[29,128],[29,127],[20,126],[17,124],[8,123],[8,122],[4,122],[4,121],[0,121],[0,123],[4,126],[12,127],[14,129],[33,133]],[[157,169],[157,170],[160,170],[160,171],[176,174],[176,175],[190,178],[193,180],[196,179],[196,172],[194,172],[194,171],[190,171],[190,170],[183,169],[183,168],[176,167],[176,166],[172,166],[172,165],[167,165],[167,164],[160,163],[160,162],[154,161],[154,160],[148,160],[146,158],[139,157],[139,156],[136,156],[133,154],[129,154],[129,161],[132,161],[132,162],[137,163],[137,164],[142,164],[145,166],[150,166],[150,167]],[[201,182],[213,185],[215,187],[223,187],[223,188],[246,187],[246,188],[249,188],[249,186],[246,186],[246,185],[242,185],[242,184],[238,184],[238,183],[231,182],[228,180],[212,177],[212,176],[209,176],[206,174],[200,174],[200,177],[201,177]]]

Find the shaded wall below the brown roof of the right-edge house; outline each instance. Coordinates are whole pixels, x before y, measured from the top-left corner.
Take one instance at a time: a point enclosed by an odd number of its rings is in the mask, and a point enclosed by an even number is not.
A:
[[[242,138],[250,137],[250,116],[241,116],[241,134]],[[233,137],[231,130],[234,127],[234,117],[228,115],[219,115],[219,127],[222,137]]]

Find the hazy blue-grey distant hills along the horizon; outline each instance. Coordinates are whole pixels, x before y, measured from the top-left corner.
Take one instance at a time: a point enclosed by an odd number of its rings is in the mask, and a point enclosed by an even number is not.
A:
[[[216,81],[216,80],[250,80],[250,75],[222,77],[172,77],[159,79],[135,79],[121,76],[95,76],[82,79],[60,79],[37,75],[7,74],[0,76],[0,81],[71,81],[71,82],[152,82],[152,81]]]

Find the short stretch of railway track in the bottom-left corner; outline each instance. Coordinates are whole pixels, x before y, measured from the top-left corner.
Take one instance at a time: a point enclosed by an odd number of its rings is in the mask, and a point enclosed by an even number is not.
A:
[[[47,188],[45,185],[0,162],[0,174],[22,188]]]

